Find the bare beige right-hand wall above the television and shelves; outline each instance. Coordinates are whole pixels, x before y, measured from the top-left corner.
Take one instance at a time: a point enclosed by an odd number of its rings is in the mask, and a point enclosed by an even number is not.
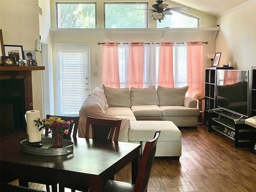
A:
[[[233,62],[237,70],[251,70],[256,66],[256,2],[246,4],[220,16],[220,32],[216,38],[216,52],[222,52],[220,64]]]

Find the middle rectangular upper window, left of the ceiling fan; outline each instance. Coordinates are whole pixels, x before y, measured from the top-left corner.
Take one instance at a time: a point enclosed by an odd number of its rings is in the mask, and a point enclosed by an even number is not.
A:
[[[148,28],[148,3],[104,3],[105,28]]]

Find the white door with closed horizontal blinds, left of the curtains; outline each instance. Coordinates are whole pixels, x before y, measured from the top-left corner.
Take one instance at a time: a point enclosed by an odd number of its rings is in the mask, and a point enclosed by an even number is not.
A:
[[[57,108],[60,116],[78,116],[89,94],[89,45],[56,44]]]

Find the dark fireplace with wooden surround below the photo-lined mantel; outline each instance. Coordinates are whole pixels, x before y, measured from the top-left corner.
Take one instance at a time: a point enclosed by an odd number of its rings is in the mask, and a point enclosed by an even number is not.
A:
[[[0,67],[0,136],[26,131],[25,113],[33,110],[31,70]],[[18,67],[17,67],[18,68]],[[4,70],[2,70],[4,69]],[[14,70],[12,70],[14,69]],[[20,69],[20,68],[18,68]]]

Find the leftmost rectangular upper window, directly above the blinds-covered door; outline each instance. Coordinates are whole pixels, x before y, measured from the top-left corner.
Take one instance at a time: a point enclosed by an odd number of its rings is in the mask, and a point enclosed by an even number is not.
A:
[[[57,28],[96,28],[96,3],[56,2]]]

